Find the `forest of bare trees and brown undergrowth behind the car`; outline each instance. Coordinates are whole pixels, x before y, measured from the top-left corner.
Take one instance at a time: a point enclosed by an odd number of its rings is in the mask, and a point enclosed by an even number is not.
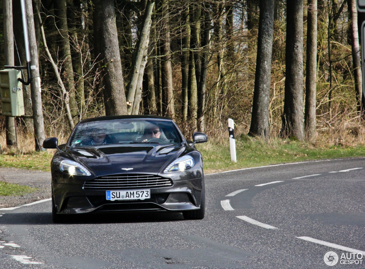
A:
[[[19,2],[3,0],[1,66],[26,65]],[[45,137],[64,142],[80,119],[126,114],[169,116],[187,138],[207,133],[210,159],[227,147],[228,118],[238,145],[259,137],[250,150],[261,155],[285,156],[286,143],[318,158],[321,147],[364,154],[353,151],[365,135],[354,0],[25,2],[42,119],[0,116],[5,154],[31,153],[34,141],[40,150]],[[26,115],[35,115],[34,84],[23,86]]]

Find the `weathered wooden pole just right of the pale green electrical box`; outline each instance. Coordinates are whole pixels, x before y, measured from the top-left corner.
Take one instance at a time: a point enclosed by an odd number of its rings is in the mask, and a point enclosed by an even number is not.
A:
[[[25,9],[27,13],[30,61],[31,65],[35,66],[35,68],[30,71],[32,76],[30,90],[32,98],[35,150],[40,151],[43,150],[42,146],[43,141],[45,140],[45,128],[42,110],[41,79],[39,78],[38,48],[37,40],[35,38],[32,0],[25,0]]]

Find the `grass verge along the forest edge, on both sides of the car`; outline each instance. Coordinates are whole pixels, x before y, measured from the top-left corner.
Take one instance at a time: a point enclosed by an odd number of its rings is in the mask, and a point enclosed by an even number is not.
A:
[[[263,141],[241,135],[236,138],[237,163],[231,162],[228,139],[210,139],[197,144],[203,155],[204,173],[222,172],[256,166],[289,162],[365,156],[365,145],[313,145],[303,141],[272,139]],[[0,155],[0,167],[50,171],[52,152],[5,153]]]

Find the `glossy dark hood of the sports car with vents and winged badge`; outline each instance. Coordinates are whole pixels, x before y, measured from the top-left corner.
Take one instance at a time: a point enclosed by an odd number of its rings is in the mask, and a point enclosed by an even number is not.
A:
[[[88,166],[96,176],[100,177],[122,173],[157,174],[162,166],[172,162],[185,150],[184,144],[101,145],[69,149],[68,154],[76,161]]]

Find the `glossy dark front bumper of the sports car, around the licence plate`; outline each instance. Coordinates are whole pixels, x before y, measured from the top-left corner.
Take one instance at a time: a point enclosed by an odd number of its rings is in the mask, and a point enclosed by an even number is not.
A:
[[[83,184],[52,182],[58,214],[88,212],[167,210],[185,211],[200,208],[204,178],[174,181],[171,187],[148,188],[150,199],[106,200],[108,189],[83,189]],[[124,190],[124,189],[123,189]]]

